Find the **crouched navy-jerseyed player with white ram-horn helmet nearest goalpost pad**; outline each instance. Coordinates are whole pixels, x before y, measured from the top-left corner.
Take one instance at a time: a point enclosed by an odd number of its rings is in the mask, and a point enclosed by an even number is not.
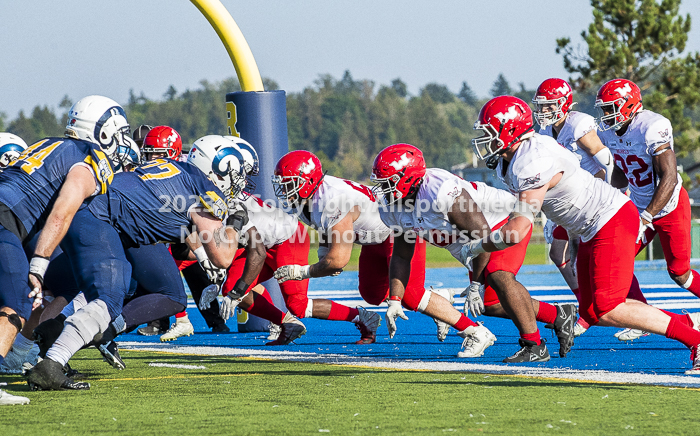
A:
[[[188,163],[156,159],[123,173],[112,189],[75,215],[61,246],[87,304],[66,319],[46,359],[29,374],[32,389],[89,389],[69,379],[62,367],[119,317],[131,279],[131,250],[184,240],[198,259],[206,256],[217,268],[231,264],[247,218],[241,208],[229,214],[229,203],[245,183],[236,153],[229,140],[205,136],[194,143]],[[172,313],[186,304],[184,298],[178,307],[165,295],[151,297],[154,304],[175,309]]]

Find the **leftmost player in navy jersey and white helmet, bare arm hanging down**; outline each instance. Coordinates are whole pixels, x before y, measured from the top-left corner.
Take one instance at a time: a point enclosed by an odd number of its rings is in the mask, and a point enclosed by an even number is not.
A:
[[[54,248],[86,198],[114,177],[111,159],[131,138],[124,110],[101,96],[69,111],[64,138],[45,138],[24,150],[0,174],[0,364],[32,306],[42,303],[42,281]],[[31,261],[23,243],[40,230]],[[31,302],[27,296],[34,300]]]

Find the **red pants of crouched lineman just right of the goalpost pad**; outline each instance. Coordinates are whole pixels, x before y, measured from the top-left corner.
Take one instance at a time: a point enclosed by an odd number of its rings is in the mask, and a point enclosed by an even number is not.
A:
[[[381,244],[363,245],[360,251],[360,295],[375,306],[389,298],[389,262],[394,247],[391,239],[389,237]],[[417,238],[411,259],[411,276],[401,301],[409,310],[416,310],[425,294],[425,248],[426,242]]]

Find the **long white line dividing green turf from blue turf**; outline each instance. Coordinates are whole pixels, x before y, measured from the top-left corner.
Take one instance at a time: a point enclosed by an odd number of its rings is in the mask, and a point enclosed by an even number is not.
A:
[[[225,347],[191,347],[170,344],[154,347],[154,344],[142,342],[120,342],[124,350],[169,351],[181,354],[199,354],[209,356],[257,357],[310,363],[327,363],[333,365],[357,365],[372,368],[390,368],[423,371],[464,371],[500,375],[521,375],[551,379],[581,380],[602,383],[632,383],[645,385],[700,387],[700,377],[683,375],[639,374],[612,371],[579,370],[570,368],[533,368],[517,365],[495,365],[466,362],[424,362],[420,360],[386,360],[343,354],[317,354],[301,351],[252,350]],[[474,360],[472,360],[473,362]]]

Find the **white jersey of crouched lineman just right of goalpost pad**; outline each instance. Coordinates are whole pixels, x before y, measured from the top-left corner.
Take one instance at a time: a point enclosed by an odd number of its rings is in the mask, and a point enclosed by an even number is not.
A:
[[[360,216],[353,223],[355,242],[361,245],[384,242],[391,230],[379,217],[379,204],[372,190],[351,180],[324,176],[309,203],[309,216],[300,213],[299,218],[306,225],[327,234],[355,206],[360,208]]]

